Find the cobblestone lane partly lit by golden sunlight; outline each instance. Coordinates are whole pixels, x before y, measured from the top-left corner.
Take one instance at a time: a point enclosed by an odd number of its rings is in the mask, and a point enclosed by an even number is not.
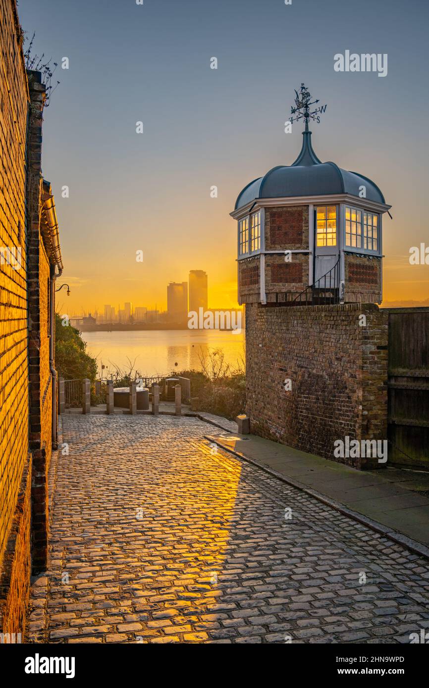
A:
[[[428,561],[211,447],[212,431],[63,416],[28,642],[408,643],[429,628]]]

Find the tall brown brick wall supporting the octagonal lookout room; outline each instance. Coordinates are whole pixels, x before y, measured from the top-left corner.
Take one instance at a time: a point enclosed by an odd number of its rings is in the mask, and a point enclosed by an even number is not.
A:
[[[366,316],[366,326],[359,316]],[[251,431],[334,459],[335,440],[387,438],[387,316],[373,304],[247,305]],[[291,379],[291,391],[284,380]],[[337,459],[357,468],[372,460]]]

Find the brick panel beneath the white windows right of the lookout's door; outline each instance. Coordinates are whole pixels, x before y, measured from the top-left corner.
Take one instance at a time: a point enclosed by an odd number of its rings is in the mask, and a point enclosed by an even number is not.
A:
[[[356,303],[381,303],[381,259],[344,254],[345,300]]]

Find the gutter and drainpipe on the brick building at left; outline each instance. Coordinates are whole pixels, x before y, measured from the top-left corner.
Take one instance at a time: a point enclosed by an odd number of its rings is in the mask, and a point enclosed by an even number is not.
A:
[[[61,277],[63,272],[63,259],[61,257],[61,247],[59,242],[58,219],[56,218],[54,196],[50,182],[42,182],[42,207],[45,213],[46,224],[48,226],[49,237],[52,244],[50,252],[50,298],[49,298],[49,321],[50,321],[50,341],[49,341],[49,367],[52,376],[52,449],[58,449],[58,427],[57,427],[57,396],[58,379],[55,369],[55,285],[56,278]],[[58,272],[56,272],[58,268]]]

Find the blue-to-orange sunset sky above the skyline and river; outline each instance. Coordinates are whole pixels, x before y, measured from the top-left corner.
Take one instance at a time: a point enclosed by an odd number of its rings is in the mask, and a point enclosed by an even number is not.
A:
[[[190,269],[208,273],[209,306],[236,305],[229,212],[245,184],[297,157],[302,127],[285,134],[284,122],[302,82],[328,104],[312,126],[319,158],[373,179],[393,206],[384,299],[428,299],[429,266],[409,262],[411,246],[429,246],[425,0],[19,0],[18,9],[34,52],[59,63],[42,162],[60,283],[72,290],[64,308],[165,308],[167,283]],[[345,50],[387,53],[388,75],[335,72]]]

